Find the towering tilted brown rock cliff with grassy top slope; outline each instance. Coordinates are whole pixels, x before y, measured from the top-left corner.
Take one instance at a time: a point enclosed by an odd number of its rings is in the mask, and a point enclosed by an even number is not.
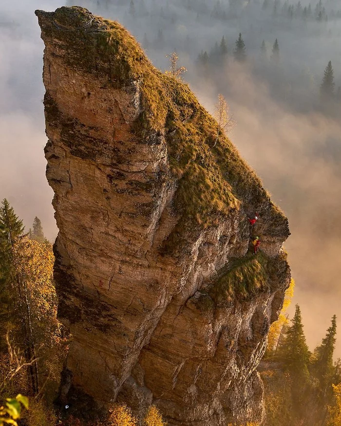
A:
[[[118,23],[79,7],[36,15],[58,317],[72,333],[61,398],[153,403],[170,425],[261,420],[255,369],[290,280],[286,218]]]

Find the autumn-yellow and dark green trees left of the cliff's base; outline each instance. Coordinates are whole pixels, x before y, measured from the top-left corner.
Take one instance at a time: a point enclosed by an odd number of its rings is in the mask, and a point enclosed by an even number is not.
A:
[[[30,238],[31,236],[31,238]],[[38,240],[38,241],[37,241]],[[57,321],[53,283],[52,245],[36,217],[33,232],[24,233],[22,221],[7,200],[0,206],[0,401],[15,425],[51,426],[51,404],[67,351],[67,333]],[[21,413],[20,404],[31,409]],[[7,407],[7,408],[6,408]],[[7,410],[7,411],[6,411]],[[15,410],[16,413],[15,413]],[[4,415],[4,414],[3,414]],[[17,417],[16,417],[17,416]],[[6,416],[5,416],[6,418]]]

